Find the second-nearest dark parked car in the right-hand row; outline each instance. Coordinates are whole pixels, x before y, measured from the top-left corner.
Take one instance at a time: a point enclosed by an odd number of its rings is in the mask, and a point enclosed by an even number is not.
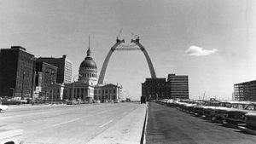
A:
[[[248,102],[247,106],[237,105],[237,107],[230,109],[227,116],[224,118],[223,124],[230,127],[237,127],[238,124],[245,124],[245,114],[254,111],[256,103]]]

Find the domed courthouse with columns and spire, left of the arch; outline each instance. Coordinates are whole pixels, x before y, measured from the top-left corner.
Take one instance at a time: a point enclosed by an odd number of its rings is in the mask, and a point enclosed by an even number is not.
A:
[[[86,57],[79,66],[79,77],[77,82],[65,84],[64,97],[69,100],[80,99],[82,101],[113,101],[118,100],[122,87],[119,84],[97,84],[97,66],[91,57],[90,47]]]

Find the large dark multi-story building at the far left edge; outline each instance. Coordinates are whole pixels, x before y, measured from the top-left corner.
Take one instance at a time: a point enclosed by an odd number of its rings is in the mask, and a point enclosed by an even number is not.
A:
[[[32,96],[33,57],[20,46],[1,49],[0,96]]]

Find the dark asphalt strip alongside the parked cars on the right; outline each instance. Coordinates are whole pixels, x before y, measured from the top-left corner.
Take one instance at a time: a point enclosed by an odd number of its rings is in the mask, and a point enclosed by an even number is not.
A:
[[[256,136],[151,102],[146,141],[147,144],[255,144]]]

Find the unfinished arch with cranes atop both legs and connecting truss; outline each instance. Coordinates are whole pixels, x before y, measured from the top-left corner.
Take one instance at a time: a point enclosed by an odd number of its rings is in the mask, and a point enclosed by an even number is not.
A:
[[[113,52],[115,50],[141,50],[143,51],[143,54],[148,62],[148,67],[149,67],[149,71],[151,74],[151,78],[156,78],[155,72],[154,72],[154,66],[149,58],[148,52],[146,51],[146,49],[143,47],[143,45],[140,43],[140,39],[139,37],[137,37],[135,40],[131,39],[131,43],[135,43],[139,48],[128,48],[131,46],[121,46],[121,43],[125,43],[125,39],[123,40],[119,40],[119,38],[117,38],[116,43],[113,44],[113,47],[111,47],[111,49],[108,51],[108,55],[106,57],[106,59],[104,60],[104,63],[102,65],[102,70],[100,73],[100,77],[98,80],[98,85],[103,84],[104,81],[104,77],[105,77],[105,73],[107,71],[107,67],[108,67],[108,61],[110,60],[111,55],[113,54]],[[118,48],[119,46],[123,47],[123,48]]]

